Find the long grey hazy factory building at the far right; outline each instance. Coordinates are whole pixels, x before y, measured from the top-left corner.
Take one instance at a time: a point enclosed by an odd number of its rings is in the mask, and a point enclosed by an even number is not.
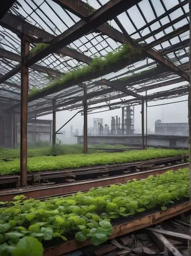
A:
[[[160,119],[155,121],[155,134],[188,136],[188,123],[162,123]]]

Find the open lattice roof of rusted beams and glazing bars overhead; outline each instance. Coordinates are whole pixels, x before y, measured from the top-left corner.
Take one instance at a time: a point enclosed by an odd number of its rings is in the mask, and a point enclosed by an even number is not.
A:
[[[140,104],[146,91],[148,101],[187,95],[188,3],[188,0],[6,1],[0,13],[1,108],[19,111],[21,37],[30,41],[30,50],[41,42],[49,44],[26,57],[29,91],[89,65],[95,56],[104,58],[122,44],[128,43],[139,51],[132,61],[119,60],[117,65],[88,74],[75,84],[61,84],[30,97],[30,117],[51,114],[53,99],[56,111],[82,108],[84,86],[87,86],[88,111]]]

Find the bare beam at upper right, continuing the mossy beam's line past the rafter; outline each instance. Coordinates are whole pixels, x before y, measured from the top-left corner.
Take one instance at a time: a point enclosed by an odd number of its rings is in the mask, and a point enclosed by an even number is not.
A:
[[[186,24],[186,25],[184,25],[184,26],[182,26],[182,27],[180,27],[180,28],[178,28],[178,29],[160,37],[159,39],[154,40],[153,42],[150,42],[150,44],[145,46],[145,48],[148,49],[148,48],[152,48],[154,46],[157,46],[159,44],[162,44],[162,42],[165,42],[166,40],[169,40],[169,39],[171,39],[171,38],[173,38],[177,35],[180,35],[180,34],[186,32],[188,30],[189,30],[189,24]]]

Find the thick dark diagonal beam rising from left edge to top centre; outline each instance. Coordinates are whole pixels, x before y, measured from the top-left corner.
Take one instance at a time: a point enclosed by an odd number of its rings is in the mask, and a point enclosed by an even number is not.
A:
[[[116,15],[122,13],[124,10],[131,8],[140,1],[141,0],[129,0],[128,2],[126,0],[109,1],[99,10],[93,12],[92,15],[88,17],[87,22],[80,20],[74,26],[64,31],[61,35],[55,37],[55,39],[51,41],[51,45],[49,47],[41,50],[38,53],[30,54],[27,57],[27,66],[32,66],[35,62],[41,60],[42,58],[53,53],[54,51],[57,51],[60,48],[65,47],[66,45],[70,44],[70,42],[77,40],[84,34],[90,32],[92,29],[99,27],[107,20],[112,19]],[[0,83],[17,74],[19,71],[20,65],[11,70],[10,72],[8,72],[5,76],[1,77]]]

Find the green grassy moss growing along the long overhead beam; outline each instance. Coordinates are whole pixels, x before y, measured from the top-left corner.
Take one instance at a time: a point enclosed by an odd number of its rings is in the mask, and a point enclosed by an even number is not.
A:
[[[134,58],[137,53],[139,53],[138,50],[133,49],[129,44],[124,44],[122,47],[117,48],[115,52],[110,52],[106,56],[93,58],[89,66],[84,65],[82,68],[78,68],[64,75],[61,75],[60,79],[56,78],[53,82],[47,84],[47,86],[44,88],[31,91],[29,98],[40,92],[58,86],[59,84],[64,84],[68,81],[75,83],[78,81],[78,78],[82,78],[87,74],[92,74],[101,70],[107,70],[108,67],[111,67],[114,63],[117,63],[121,59],[125,59],[127,57],[130,59]]]

